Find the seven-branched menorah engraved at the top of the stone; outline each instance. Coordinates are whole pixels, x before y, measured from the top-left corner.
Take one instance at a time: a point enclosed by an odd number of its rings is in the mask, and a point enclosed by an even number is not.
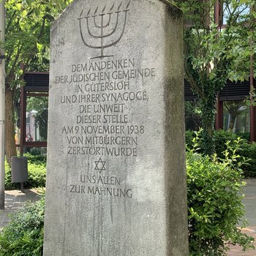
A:
[[[116,45],[124,34],[124,29],[127,23],[127,12],[129,11],[130,1],[124,10],[121,10],[122,2],[115,8],[115,4],[110,7],[109,12],[106,11],[106,6],[99,10],[97,7],[94,12],[91,8],[85,16],[83,10],[80,13],[79,27],[83,43],[89,48],[100,49],[100,55],[91,59],[103,59],[112,57],[113,55],[104,55],[104,49],[112,45]],[[91,15],[91,12],[92,15]],[[82,28],[82,26],[84,26]],[[91,42],[92,41],[92,42]]]

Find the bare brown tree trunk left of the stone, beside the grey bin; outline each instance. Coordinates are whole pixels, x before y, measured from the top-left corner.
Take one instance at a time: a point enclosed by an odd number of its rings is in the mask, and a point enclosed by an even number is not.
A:
[[[9,86],[6,86],[5,91],[5,153],[7,162],[11,165],[11,157],[16,157],[17,151],[15,147],[13,91]]]

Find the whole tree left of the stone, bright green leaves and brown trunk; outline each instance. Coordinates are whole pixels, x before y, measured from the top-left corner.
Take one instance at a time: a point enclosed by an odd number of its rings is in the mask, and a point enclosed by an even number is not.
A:
[[[71,0],[6,0],[6,154],[15,152],[14,105],[26,71],[48,70],[50,24]]]

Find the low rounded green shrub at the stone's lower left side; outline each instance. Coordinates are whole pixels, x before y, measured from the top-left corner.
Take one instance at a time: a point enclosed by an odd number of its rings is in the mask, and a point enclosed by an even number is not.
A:
[[[41,256],[45,200],[21,208],[0,232],[0,256]]]

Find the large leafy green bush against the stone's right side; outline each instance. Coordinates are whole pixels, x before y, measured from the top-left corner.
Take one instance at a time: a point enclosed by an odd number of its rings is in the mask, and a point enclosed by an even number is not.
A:
[[[244,250],[253,247],[253,238],[237,227],[245,214],[240,192],[244,160],[237,155],[239,143],[236,140],[233,149],[226,144],[224,159],[197,154],[197,145],[187,151],[190,255],[225,255],[225,241]]]

